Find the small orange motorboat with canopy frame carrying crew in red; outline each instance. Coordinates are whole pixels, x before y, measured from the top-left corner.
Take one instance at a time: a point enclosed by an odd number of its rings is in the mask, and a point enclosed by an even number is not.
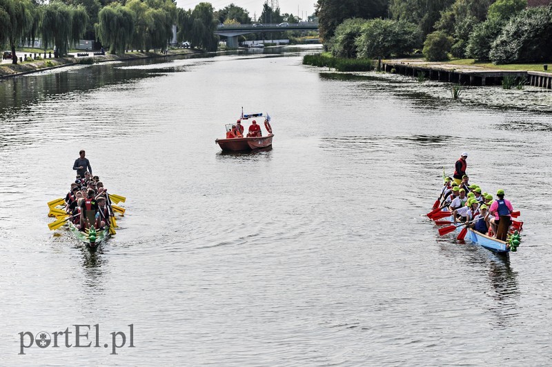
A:
[[[251,123],[253,124],[253,121],[257,123],[257,119],[264,119],[264,128],[266,130],[266,135],[264,135],[264,132],[262,131],[262,124],[258,124],[260,130],[260,136],[247,136],[245,137],[234,137],[235,134],[233,134],[233,128],[235,128],[236,123],[227,123],[225,125],[226,127],[226,139],[215,139],[215,143],[219,144],[220,148],[223,152],[240,152],[240,151],[248,151],[248,150],[256,150],[261,148],[268,148],[272,146],[272,139],[274,137],[274,134],[272,132],[272,126],[270,126],[270,116],[268,116],[268,113],[262,114],[262,113],[253,113],[249,115],[244,115],[244,112],[242,110],[242,116],[239,118],[238,121],[243,123],[244,121],[251,120]],[[244,126],[244,129],[246,127]],[[244,134],[246,134],[246,130],[244,130]]]

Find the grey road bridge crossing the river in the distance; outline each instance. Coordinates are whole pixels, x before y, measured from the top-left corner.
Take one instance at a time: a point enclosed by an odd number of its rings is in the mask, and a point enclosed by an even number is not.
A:
[[[250,33],[285,32],[287,30],[318,30],[318,23],[279,23],[279,24],[233,24],[220,25],[215,34],[226,37],[226,45],[229,48],[237,48],[237,37]]]

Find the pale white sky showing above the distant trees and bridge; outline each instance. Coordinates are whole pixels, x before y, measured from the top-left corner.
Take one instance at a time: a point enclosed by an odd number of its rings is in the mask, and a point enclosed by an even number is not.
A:
[[[204,0],[204,1],[195,1],[195,0],[177,0],[177,6],[179,8],[184,8],[186,10],[194,8],[197,4],[201,2],[213,4],[215,10],[222,9],[230,3],[234,3],[236,6],[240,6],[245,10],[248,10],[249,16],[253,18],[255,12],[257,12],[257,17],[261,14],[263,10],[263,4],[265,0]],[[271,0],[268,0],[270,4]],[[278,0],[280,6],[280,13],[291,13],[293,15],[299,15],[299,17],[306,18],[308,15],[315,12],[315,3],[317,0]],[[299,6],[299,13],[297,13],[297,6]]]

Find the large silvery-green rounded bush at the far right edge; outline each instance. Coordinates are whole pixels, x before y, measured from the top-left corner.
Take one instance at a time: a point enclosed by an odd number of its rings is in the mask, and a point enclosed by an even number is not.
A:
[[[491,46],[493,63],[538,62],[552,59],[552,6],[527,8],[512,17]]]

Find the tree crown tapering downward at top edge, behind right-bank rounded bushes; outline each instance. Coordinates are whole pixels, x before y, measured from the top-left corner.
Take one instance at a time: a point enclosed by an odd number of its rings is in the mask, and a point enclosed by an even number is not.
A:
[[[390,0],[389,12],[393,19],[417,24],[422,36],[426,37],[435,30],[441,12],[453,3],[454,0]]]

